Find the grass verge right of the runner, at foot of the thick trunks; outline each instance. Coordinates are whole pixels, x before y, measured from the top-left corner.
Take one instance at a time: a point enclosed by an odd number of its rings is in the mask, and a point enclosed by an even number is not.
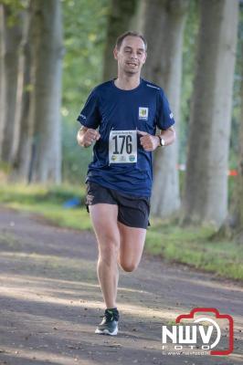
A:
[[[161,224],[148,232],[146,247],[150,254],[161,255],[168,261],[243,280],[241,246],[234,241],[212,240],[214,233],[212,227]]]

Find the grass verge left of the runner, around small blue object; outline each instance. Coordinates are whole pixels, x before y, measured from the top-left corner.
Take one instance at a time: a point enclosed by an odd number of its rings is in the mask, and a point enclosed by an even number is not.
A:
[[[74,229],[91,229],[90,216],[84,206],[85,188],[80,186],[2,185],[0,203],[19,211],[41,214],[52,224]],[[65,208],[73,199],[76,208]]]

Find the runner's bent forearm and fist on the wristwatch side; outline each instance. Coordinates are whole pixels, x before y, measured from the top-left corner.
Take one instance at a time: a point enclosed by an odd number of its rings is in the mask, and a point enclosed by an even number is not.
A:
[[[145,151],[154,151],[157,147],[161,146],[158,135],[153,136],[141,130],[138,130],[137,132],[142,135],[140,141]],[[169,146],[175,140],[174,127],[171,126],[167,130],[161,130],[160,136],[164,139],[164,146]]]

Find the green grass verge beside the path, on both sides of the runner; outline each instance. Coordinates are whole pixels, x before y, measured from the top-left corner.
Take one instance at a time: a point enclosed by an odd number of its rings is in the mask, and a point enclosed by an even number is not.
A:
[[[20,211],[41,214],[53,224],[90,230],[90,217],[84,207],[85,188],[77,186],[2,185],[0,203]],[[73,198],[77,208],[65,208]],[[153,222],[148,230],[145,249],[167,261],[183,263],[243,280],[243,250],[234,241],[216,241],[212,227],[180,227],[177,224]]]

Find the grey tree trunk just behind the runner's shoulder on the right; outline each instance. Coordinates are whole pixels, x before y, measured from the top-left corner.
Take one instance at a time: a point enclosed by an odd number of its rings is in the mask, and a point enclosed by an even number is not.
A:
[[[178,135],[182,52],[187,0],[145,1],[143,34],[148,41],[144,76],[163,87],[174,112]],[[154,153],[152,214],[168,217],[180,206],[176,169],[178,142]]]

